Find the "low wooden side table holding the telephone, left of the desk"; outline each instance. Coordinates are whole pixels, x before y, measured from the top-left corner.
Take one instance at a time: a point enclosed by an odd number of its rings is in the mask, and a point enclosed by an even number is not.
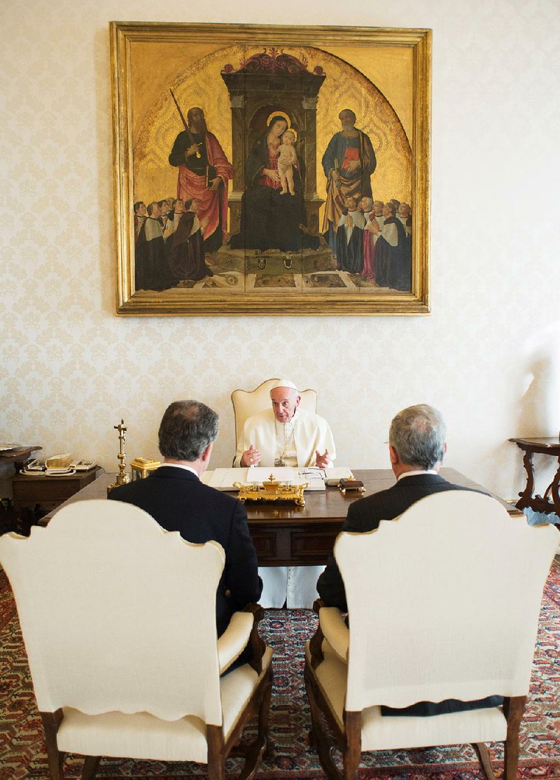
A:
[[[44,474],[31,477],[27,474],[16,474],[10,479],[13,505],[16,509],[32,509],[37,522],[47,512],[51,512],[71,495],[96,480],[101,471],[101,466],[94,466],[89,471],[78,471],[69,477],[46,477]]]

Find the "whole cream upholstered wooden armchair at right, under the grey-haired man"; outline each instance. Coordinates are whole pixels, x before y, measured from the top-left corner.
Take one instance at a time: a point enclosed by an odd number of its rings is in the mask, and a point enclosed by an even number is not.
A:
[[[494,778],[485,742],[505,741],[515,780],[540,600],[558,546],[494,498],[448,491],[423,498],[369,534],[340,534],[334,555],[348,601],[319,608],[305,649],[312,742],[330,778],[356,778],[360,753],[472,743]],[[432,717],[382,714],[381,705],[505,697],[504,705]],[[321,728],[326,718],[333,738]]]

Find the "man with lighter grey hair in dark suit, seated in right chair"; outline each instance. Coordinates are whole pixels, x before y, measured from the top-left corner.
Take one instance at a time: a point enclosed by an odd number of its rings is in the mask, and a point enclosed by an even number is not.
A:
[[[408,406],[391,421],[389,457],[397,483],[388,490],[374,493],[353,502],[342,530],[366,533],[379,527],[381,520],[393,520],[408,507],[432,493],[465,490],[437,473],[447,450],[445,424],[441,414],[427,404]],[[334,555],[317,582],[317,591],[327,607],[348,612],[344,582]],[[449,699],[433,704],[421,701],[404,709],[382,707],[383,715],[437,715],[445,712],[496,707],[502,697],[487,697],[476,701]]]

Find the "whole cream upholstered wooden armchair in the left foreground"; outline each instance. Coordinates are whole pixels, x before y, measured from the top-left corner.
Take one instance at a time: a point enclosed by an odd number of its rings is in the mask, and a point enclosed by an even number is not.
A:
[[[268,745],[271,656],[262,609],[236,612],[216,639],[223,548],[190,544],[137,507],[105,500],[61,509],[29,538],[0,538],[45,728],[52,780],[65,753],[196,761],[210,778],[244,724],[251,778]],[[253,659],[220,678],[251,635]]]

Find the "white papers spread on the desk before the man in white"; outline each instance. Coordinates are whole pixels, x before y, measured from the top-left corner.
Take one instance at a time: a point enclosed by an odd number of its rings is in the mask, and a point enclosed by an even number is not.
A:
[[[291,484],[309,482],[309,488],[305,488],[305,491],[324,491],[325,479],[331,477],[330,472],[336,472],[332,477],[337,477],[338,479],[348,478],[352,475],[350,469],[319,469],[316,466],[309,468],[250,466],[248,469],[215,469],[213,471],[205,471],[202,474],[202,482],[211,488],[216,488],[216,490],[237,491],[238,488],[234,488],[234,482],[242,482],[244,484],[256,482],[262,484],[272,474],[273,479],[279,482],[290,482]]]

